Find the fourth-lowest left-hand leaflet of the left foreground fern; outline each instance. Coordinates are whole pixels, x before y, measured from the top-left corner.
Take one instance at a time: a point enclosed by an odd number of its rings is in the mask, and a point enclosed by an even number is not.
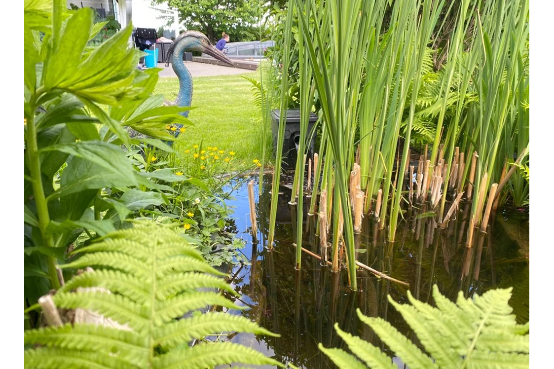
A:
[[[79,287],[100,286],[142,304],[151,296],[151,284],[150,278],[137,279],[119,270],[93,270],[71,278],[59,291],[69,292]]]

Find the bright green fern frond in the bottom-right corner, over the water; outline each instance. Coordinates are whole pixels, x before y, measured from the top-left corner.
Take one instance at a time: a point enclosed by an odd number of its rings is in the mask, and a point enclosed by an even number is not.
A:
[[[408,291],[412,305],[389,301],[414,330],[429,353],[421,351],[407,337],[381,318],[358,317],[410,368],[514,368],[529,367],[529,322],[516,323],[508,304],[511,289],[496,289],[465,299],[459,293],[454,304],[433,286],[437,307],[422,303]],[[397,368],[384,352],[360,337],[342,331],[338,335],[355,355],[340,349],[320,349],[340,368]],[[361,361],[358,361],[358,358]],[[366,365],[364,365],[364,362]]]

